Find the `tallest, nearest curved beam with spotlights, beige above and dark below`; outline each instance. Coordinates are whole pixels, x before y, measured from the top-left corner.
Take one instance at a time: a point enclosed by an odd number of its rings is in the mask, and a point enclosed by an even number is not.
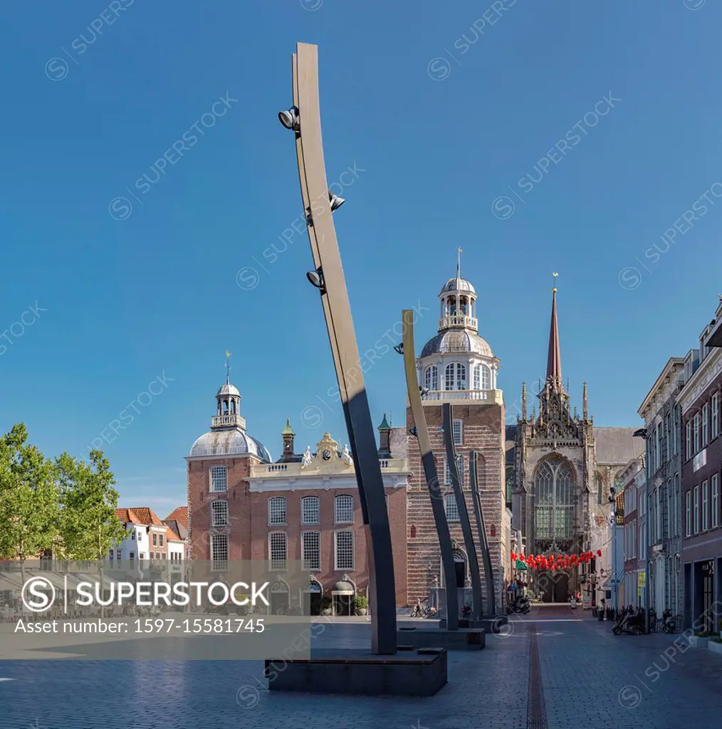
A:
[[[317,46],[297,44],[292,57],[292,85],[292,109],[279,117],[284,126],[295,132],[301,198],[314,260],[314,270],[307,276],[321,295],[343,416],[354,454],[368,555],[371,650],[379,655],[393,655],[397,643],[396,585],[389,513],[376,433],[363,375],[357,366],[358,344],[331,217],[321,139]]]

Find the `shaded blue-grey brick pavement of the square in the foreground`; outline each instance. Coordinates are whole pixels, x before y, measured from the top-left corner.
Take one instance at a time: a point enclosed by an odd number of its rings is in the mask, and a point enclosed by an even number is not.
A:
[[[581,610],[532,613],[450,653],[449,685],[426,699],[269,693],[261,661],[4,661],[0,729],[676,729],[690,706],[695,729],[721,726],[722,656],[613,636]],[[368,623],[338,623],[314,645],[369,639]]]

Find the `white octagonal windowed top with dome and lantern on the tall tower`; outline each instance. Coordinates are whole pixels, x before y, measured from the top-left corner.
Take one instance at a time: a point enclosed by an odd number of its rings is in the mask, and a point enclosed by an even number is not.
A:
[[[438,334],[417,361],[422,399],[487,400],[501,404],[497,391],[500,361],[478,333],[476,290],[459,275],[443,285]]]

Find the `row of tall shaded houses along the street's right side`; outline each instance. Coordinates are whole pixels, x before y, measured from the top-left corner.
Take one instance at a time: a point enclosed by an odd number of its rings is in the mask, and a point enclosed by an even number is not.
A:
[[[722,297],[699,347],[672,357],[638,410],[643,455],[621,473],[617,606],[670,609],[715,631],[722,612]]]

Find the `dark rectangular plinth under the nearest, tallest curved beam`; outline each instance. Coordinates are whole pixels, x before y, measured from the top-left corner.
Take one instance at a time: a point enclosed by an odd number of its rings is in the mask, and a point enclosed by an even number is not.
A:
[[[267,659],[265,677],[271,691],[433,696],[446,685],[446,658],[443,647],[388,656],[368,650],[314,650],[308,659]]]

